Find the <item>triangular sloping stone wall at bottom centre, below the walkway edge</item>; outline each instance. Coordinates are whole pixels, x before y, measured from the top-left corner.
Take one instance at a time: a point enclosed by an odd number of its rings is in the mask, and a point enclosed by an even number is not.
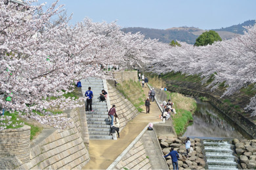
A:
[[[146,150],[140,139],[117,163],[114,169],[152,169]]]

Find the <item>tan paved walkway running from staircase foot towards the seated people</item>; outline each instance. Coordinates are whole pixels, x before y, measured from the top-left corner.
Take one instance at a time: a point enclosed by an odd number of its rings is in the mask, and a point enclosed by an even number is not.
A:
[[[148,96],[148,88],[144,88],[144,93]],[[146,100],[146,99],[145,99]],[[150,114],[146,114],[145,107],[127,126],[120,132],[117,141],[114,140],[90,140],[89,154],[91,160],[83,169],[107,169],[116,160],[117,156],[129,146],[129,144],[139,135],[149,122],[160,122],[158,116],[161,114],[156,102],[150,105]]]

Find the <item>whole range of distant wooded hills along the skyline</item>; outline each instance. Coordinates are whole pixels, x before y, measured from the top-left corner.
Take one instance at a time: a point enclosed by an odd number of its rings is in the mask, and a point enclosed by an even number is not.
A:
[[[221,29],[211,29],[217,31],[221,36],[221,39],[231,39],[237,34],[243,34],[245,29],[243,26],[254,25],[255,20],[248,20],[243,24],[232,25],[230,27],[225,27]],[[159,39],[161,42],[169,43],[173,40],[187,42],[188,44],[194,44],[196,38],[201,35],[203,32],[208,30],[199,29],[197,27],[171,27],[169,29],[152,29],[144,27],[126,27],[122,31],[125,33],[137,33],[140,32],[145,35],[145,38],[148,39]]]

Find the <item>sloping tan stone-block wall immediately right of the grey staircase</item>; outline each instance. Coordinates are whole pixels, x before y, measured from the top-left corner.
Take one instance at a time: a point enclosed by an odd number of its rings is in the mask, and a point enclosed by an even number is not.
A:
[[[120,120],[120,129],[123,129],[127,123],[132,120],[139,111],[126,99],[116,88],[108,85],[108,96],[110,98],[110,104],[116,105],[116,113]]]

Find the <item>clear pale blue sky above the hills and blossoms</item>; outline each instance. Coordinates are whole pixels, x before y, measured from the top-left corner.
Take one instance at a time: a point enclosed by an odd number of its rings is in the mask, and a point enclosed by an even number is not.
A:
[[[53,0],[39,0],[39,3]],[[93,22],[117,22],[121,27],[198,27],[219,29],[256,20],[256,0],[60,0],[75,25],[88,17]]]

